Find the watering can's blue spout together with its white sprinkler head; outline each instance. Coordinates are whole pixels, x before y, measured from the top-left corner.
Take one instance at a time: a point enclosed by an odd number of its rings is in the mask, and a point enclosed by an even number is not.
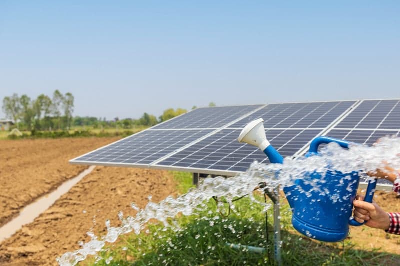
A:
[[[258,118],[248,123],[240,132],[237,140],[258,147],[265,153],[271,163],[283,163],[283,157],[266,139],[263,125],[264,120]]]

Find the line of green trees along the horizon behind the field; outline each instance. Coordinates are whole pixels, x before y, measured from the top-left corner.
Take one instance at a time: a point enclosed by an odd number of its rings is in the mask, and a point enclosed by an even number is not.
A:
[[[69,130],[74,126],[93,128],[119,127],[125,129],[134,126],[153,126],[187,112],[183,108],[168,108],[158,118],[145,112],[138,119],[119,119],[115,117],[113,120],[107,121],[105,117],[73,117],[73,100],[72,93],[66,92],[62,94],[59,90],[55,90],[51,97],[40,94],[36,99],[31,99],[25,94],[18,96],[18,94],[14,93],[3,98],[2,110],[8,118],[14,121],[18,129],[29,131]],[[213,102],[208,105],[215,106]],[[192,109],[195,108],[197,107],[192,107]]]

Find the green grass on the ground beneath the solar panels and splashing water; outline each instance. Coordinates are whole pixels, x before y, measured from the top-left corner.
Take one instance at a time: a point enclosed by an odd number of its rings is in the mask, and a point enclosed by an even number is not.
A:
[[[191,185],[191,175],[173,172],[180,192]],[[259,197],[260,201],[263,199]],[[273,261],[272,210],[268,211],[268,241],[265,238],[265,217],[262,207],[243,198],[234,203],[235,212],[222,217],[213,200],[204,203],[202,211],[174,220],[180,230],[149,224],[139,235],[121,236],[118,243],[109,244],[100,256],[104,260],[84,265],[147,266],[147,265],[275,265]],[[311,241],[300,236],[291,226],[289,206],[281,202],[282,265],[397,265],[400,256],[376,251],[353,249],[345,240],[339,243]],[[263,247],[263,254],[247,249],[236,250],[226,243]],[[106,259],[112,261],[106,264]]]

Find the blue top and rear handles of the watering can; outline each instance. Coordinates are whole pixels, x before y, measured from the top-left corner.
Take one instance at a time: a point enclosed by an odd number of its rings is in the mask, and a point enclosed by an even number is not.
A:
[[[346,140],[342,140],[342,139],[335,139],[335,138],[327,137],[327,136],[319,136],[319,137],[314,138],[311,141],[311,143],[309,145],[308,155],[318,153],[319,144],[327,144],[327,143],[330,143],[330,142],[336,142],[337,144],[340,145],[340,147],[346,148],[346,149],[348,149],[348,145],[352,143],[350,141],[346,141]],[[368,186],[367,186],[366,192],[365,192],[365,198],[364,198],[365,202],[369,202],[369,203],[372,202],[373,193],[375,192],[376,183],[377,183],[376,179],[375,180],[369,180]],[[361,225],[365,224],[366,221],[364,221],[363,223],[358,223],[357,221],[354,220],[353,217],[350,217],[348,223],[350,225],[352,225],[352,226],[361,226]]]

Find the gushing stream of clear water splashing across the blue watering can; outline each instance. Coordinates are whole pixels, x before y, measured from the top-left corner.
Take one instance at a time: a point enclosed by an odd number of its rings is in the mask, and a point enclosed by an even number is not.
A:
[[[266,211],[271,204],[259,202],[252,193],[261,182],[271,189],[284,188],[313,172],[317,172],[321,176],[325,176],[326,172],[331,169],[342,173],[351,173],[354,170],[368,172],[382,168],[386,164],[398,169],[400,166],[399,151],[400,138],[386,137],[373,146],[350,145],[348,150],[342,149],[336,143],[330,143],[320,150],[319,156],[300,157],[296,160],[285,158],[283,164],[263,165],[254,162],[245,173],[227,179],[222,177],[206,178],[198,188],[177,198],[169,196],[158,204],[149,202],[144,209],[140,210],[132,206],[138,211],[136,216],[124,218],[123,214],[120,214],[120,227],[112,227],[106,222],[107,233],[104,236],[97,237],[90,233],[91,240],[81,243],[79,250],[66,252],[56,260],[59,265],[66,266],[75,265],[85,260],[88,255],[99,258],[98,254],[107,242],[114,243],[121,234],[129,232],[139,234],[150,219],[157,219],[165,227],[172,227],[178,231],[175,223],[168,223],[168,218],[174,218],[179,213],[185,216],[196,213],[205,208],[202,203],[213,196],[224,197],[231,204],[234,198],[247,194],[251,201],[260,204]],[[348,178],[349,175],[343,176],[343,180]],[[340,190],[349,188],[349,184],[343,180],[339,180],[335,189],[329,191],[326,188],[321,189],[319,181],[309,179],[307,185],[310,189],[302,191],[302,193],[305,194],[304,198],[309,197],[310,192],[317,192],[325,201],[344,201],[347,196],[337,193],[338,188]]]

